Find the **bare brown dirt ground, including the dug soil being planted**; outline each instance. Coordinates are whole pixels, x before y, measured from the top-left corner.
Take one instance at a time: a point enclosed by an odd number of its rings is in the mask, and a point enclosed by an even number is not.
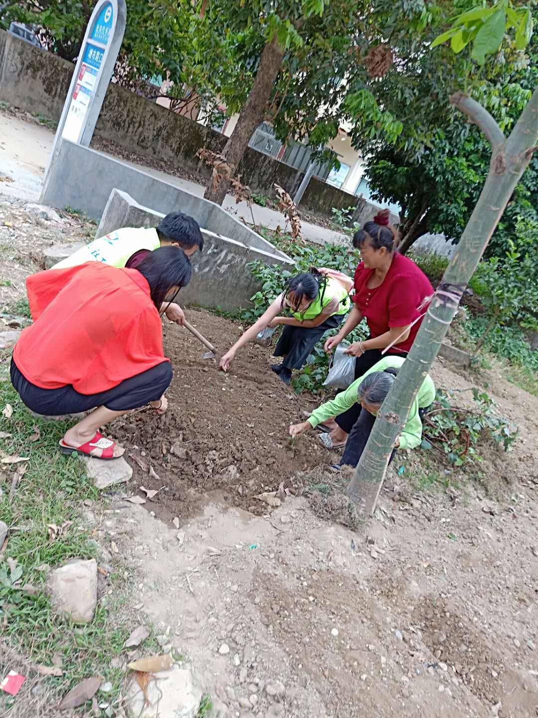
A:
[[[54,228],[16,204],[0,213],[0,278],[14,279],[0,287],[6,307],[39,251],[84,228]],[[222,350],[240,333],[206,312],[188,317]],[[129,491],[161,490],[144,507],[81,515],[103,561],[131,576],[126,611],[169,633],[212,714],[537,716],[538,398],[494,370],[458,374],[438,361],[438,386],[488,385],[519,424],[514,449],[488,449],[479,481],[450,472],[431,492],[415,482],[429,470],[424,454],[398,455],[374,518],[351,531],[305,497],[274,510],[254,498],[333,460],[313,434],[289,444],[287,425],[314,404],[273,376],[268,351],[243,350],[223,376],[194,337],[164,331],[168,414],[113,426],[131,454]]]

